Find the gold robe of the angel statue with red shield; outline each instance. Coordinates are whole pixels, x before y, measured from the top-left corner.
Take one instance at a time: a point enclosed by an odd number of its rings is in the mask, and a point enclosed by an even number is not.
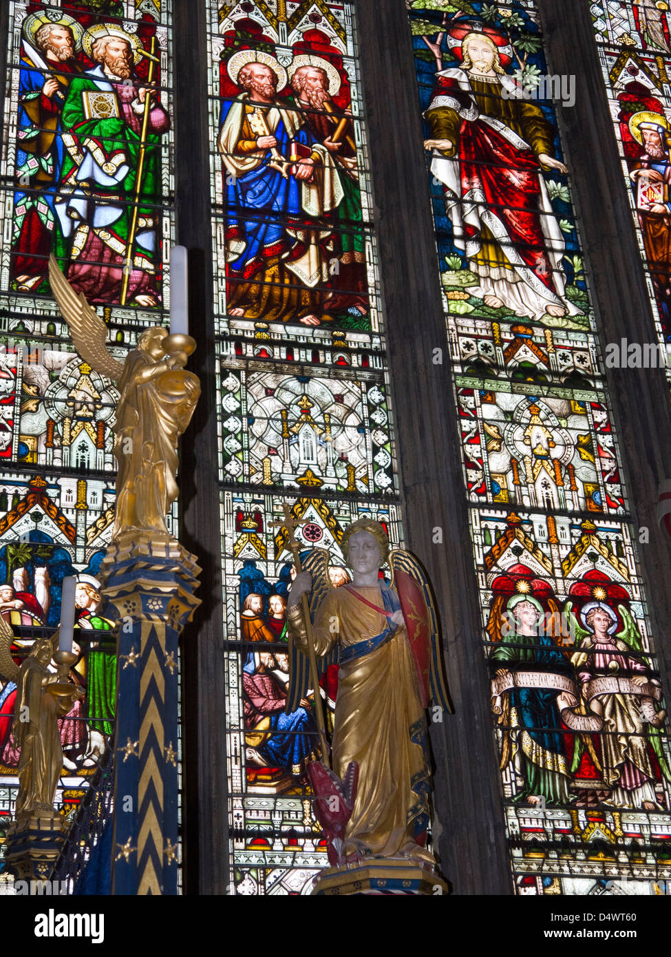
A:
[[[379,587],[356,591],[383,607]],[[287,618],[296,647],[305,651],[300,606],[288,609]],[[387,627],[384,615],[346,588],[332,590],[313,625],[315,651],[323,657],[336,642],[345,650]],[[434,863],[431,852],[414,839],[426,830],[429,819],[425,734],[424,708],[405,628],[397,629],[390,641],[369,654],[341,663],[333,770],[344,779],[350,761],[359,765],[358,790],[345,834],[346,857],[405,856]]]

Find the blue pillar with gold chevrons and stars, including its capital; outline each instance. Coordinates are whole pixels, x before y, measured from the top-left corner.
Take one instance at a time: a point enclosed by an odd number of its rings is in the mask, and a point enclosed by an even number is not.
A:
[[[200,568],[177,542],[125,535],[102,563],[119,612],[112,894],[177,893],[178,641]]]

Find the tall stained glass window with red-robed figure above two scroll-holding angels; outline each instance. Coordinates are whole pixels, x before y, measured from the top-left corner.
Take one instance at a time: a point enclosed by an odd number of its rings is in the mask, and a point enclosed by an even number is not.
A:
[[[644,30],[656,64],[661,6],[634,5],[618,41]],[[668,867],[668,728],[561,82],[533,4],[408,7],[515,891],[651,893]],[[620,30],[623,5],[606,7],[597,29]],[[633,54],[618,56],[626,73]],[[653,111],[646,86],[632,109]]]

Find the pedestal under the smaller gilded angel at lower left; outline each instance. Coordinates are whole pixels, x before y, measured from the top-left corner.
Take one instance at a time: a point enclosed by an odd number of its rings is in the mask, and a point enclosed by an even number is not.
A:
[[[48,880],[64,839],[63,818],[57,811],[22,814],[7,832],[7,870],[16,880]]]

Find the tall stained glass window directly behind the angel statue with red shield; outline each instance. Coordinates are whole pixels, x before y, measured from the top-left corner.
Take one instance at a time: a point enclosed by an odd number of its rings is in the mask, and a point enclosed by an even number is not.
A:
[[[330,551],[334,585],[348,523],[402,539],[354,5],[208,7],[234,885],[305,894],[326,857],[312,701],[283,714],[282,502],[304,550]],[[329,713],[337,669],[323,685]]]

